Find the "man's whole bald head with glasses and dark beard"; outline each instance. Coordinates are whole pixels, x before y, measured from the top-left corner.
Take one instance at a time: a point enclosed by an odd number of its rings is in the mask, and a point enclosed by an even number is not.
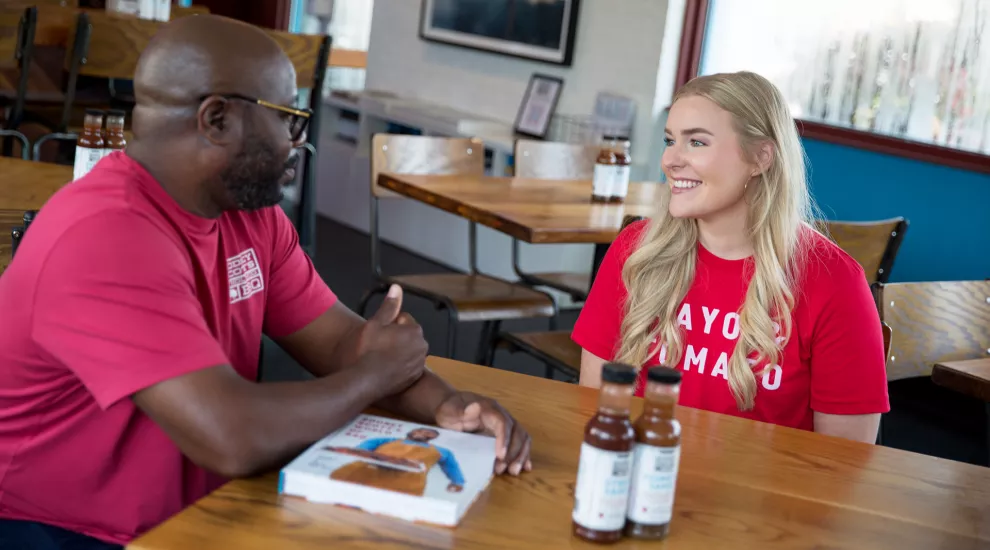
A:
[[[265,31],[214,15],[176,19],[141,53],[134,92],[127,153],[187,210],[213,217],[281,199],[305,119],[292,108],[292,62]]]

